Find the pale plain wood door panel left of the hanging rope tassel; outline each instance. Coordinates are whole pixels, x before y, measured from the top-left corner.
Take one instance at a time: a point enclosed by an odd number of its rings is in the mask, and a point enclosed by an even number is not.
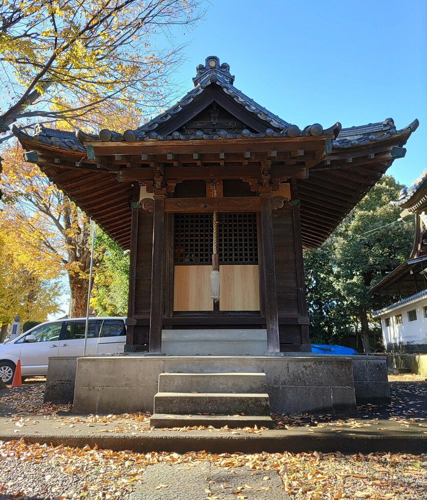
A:
[[[210,311],[211,265],[175,265],[173,310]]]

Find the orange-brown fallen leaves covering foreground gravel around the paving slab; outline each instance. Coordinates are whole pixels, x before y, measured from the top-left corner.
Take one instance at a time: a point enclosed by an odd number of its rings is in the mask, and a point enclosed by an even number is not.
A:
[[[135,484],[143,482],[144,469],[162,462],[170,465],[212,462],[228,469],[248,467],[267,472],[276,471],[283,480],[283,489],[294,500],[405,500],[421,499],[427,495],[427,455],[408,453],[132,453],[89,446],[80,449],[38,445],[15,440],[0,441],[0,461],[0,493],[11,498],[41,496],[40,488],[44,488],[41,497],[46,500],[128,498]],[[19,474],[19,464],[24,462],[28,462],[34,469],[39,463],[48,463],[50,477],[46,486],[26,488],[26,477],[21,478],[19,484],[13,480],[13,473]],[[70,486],[59,489],[52,487],[58,474],[68,476],[66,482]],[[266,485],[260,489],[269,490],[269,475],[263,478]],[[168,484],[161,483],[156,489],[167,487]],[[244,484],[235,489],[235,495],[246,496],[245,493],[251,489],[253,488],[249,484]],[[209,494],[210,490],[206,488],[205,493]]]

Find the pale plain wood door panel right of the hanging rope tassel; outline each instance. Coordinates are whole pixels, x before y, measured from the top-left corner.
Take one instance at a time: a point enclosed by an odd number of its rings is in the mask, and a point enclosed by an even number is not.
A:
[[[259,310],[257,265],[219,266],[219,308],[223,311]]]

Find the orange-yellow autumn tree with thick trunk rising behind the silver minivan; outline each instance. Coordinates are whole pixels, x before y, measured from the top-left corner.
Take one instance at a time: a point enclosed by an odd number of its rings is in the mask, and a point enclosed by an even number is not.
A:
[[[14,223],[9,231],[18,244],[36,249],[49,269],[65,270],[70,287],[70,316],[86,312],[90,269],[90,224],[87,215],[22,158],[15,141],[2,151],[3,212]],[[27,267],[38,262],[32,259]]]

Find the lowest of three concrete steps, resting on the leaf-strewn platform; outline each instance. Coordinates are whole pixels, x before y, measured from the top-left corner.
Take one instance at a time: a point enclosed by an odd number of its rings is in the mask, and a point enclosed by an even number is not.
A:
[[[270,416],[264,415],[177,415],[169,413],[153,413],[150,425],[156,428],[194,427],[209,425],[219,429],[227,425],[230,429],[243,427],[267,427],[271,429],[274,422]]]

